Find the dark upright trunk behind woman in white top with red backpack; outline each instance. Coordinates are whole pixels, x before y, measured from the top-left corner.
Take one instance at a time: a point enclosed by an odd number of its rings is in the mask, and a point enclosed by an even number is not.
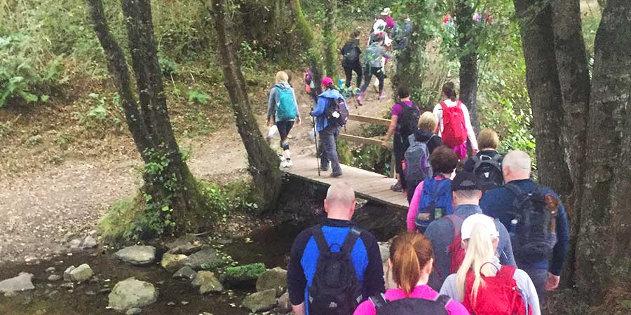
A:
[[[460,57],[460,100],[466,104],[475,133],[480,132],[477,117],[477,43],[473,38],[473,7],[467,0],[456,0],[456,28],[459,36]]]

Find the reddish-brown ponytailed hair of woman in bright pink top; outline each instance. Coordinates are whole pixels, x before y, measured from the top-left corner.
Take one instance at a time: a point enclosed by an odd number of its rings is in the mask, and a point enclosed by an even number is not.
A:
[[[405,295],[414,290],[423,267],[434,257],[431,241],[422,234],[405,232],[392,241],[390,260],[392,277]]]

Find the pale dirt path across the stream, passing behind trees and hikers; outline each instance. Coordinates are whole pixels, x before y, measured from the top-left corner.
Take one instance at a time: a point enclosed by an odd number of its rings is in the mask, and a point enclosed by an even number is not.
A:
[[[292,151],[295,155],[313,154],[310,99],[301,85],[296,90],[306,121],[292,130]],[[378,102],[371,90],[365,106],[355,109],[354,99],[349,105],[352,113],[381,117],[390,103]],[[266,134],[264,116],[258,119]],[[347,132],[359,127],[351,123]],[[273,148],[279,147],[276,142]],[[189,166],[198,178],[229,181],[247,174],[245,148],[233,124],[210,137],[183,139],[180,144],[191,148]],[[0,262],[46,258],[64,251],[71,239],[95,229],[111,204],[135,193],[141,183],[140,166],[138,155],[121,155],[114,160],[75,158],[56,167],[0,179],[0,209],[6,218],[0,220]]]

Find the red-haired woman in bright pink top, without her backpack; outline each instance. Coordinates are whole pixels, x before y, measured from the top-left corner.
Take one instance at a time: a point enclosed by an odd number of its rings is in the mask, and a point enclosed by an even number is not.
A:
[[[469,315],[459,302],[440,296],[427,285],[434,263],[434,251],[431,241],[415,232],[405,232],[392,241],[388,265],[397,288],[386,290],[384,297],[388,302],[405,298],[420,298],[445,302],[445,309],[450,315]],[[376,308],[372,299],[359,304],[353,315],[374,315]],[[440,303],[440,302],[439,302]]]

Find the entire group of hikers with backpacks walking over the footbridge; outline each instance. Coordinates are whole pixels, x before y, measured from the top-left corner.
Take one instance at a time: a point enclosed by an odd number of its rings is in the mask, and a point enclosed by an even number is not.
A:
[[[400,48],[405,41],[397,38],[406,36],[398,31],[406,29],[409,20],[398,29],[385,8],[374,22],[364,62],[358,32],[341,48],[346,84],[325,77],[310,113],[320,136],[320,170],[342,174],[336,143],[348,120],[344,94],[353,72],[358,105],[372,76],[384,99],[383,66],[396,55],[388,48],[390,38]],[[375,237],[351,221],[353,188],[334,183],[324,200],[327,218],[301,232],[292,246],[287,287],[294,314],[541,314],[546,292],[559,285],[569,246],[558,195],[531,180],[527,153],[498,153],[494,130],[476,137],[454,83],[442,86],[433,111],[421,113],[405,86],[397,98],[383,144],[393,137],[398,181],[391,189],[407,194],[407,231],[391,240],[384,267]],[[290,167],[287,134],[301,117],[283,71],[270,92],[268,119],[280,133],[281,167]]]

